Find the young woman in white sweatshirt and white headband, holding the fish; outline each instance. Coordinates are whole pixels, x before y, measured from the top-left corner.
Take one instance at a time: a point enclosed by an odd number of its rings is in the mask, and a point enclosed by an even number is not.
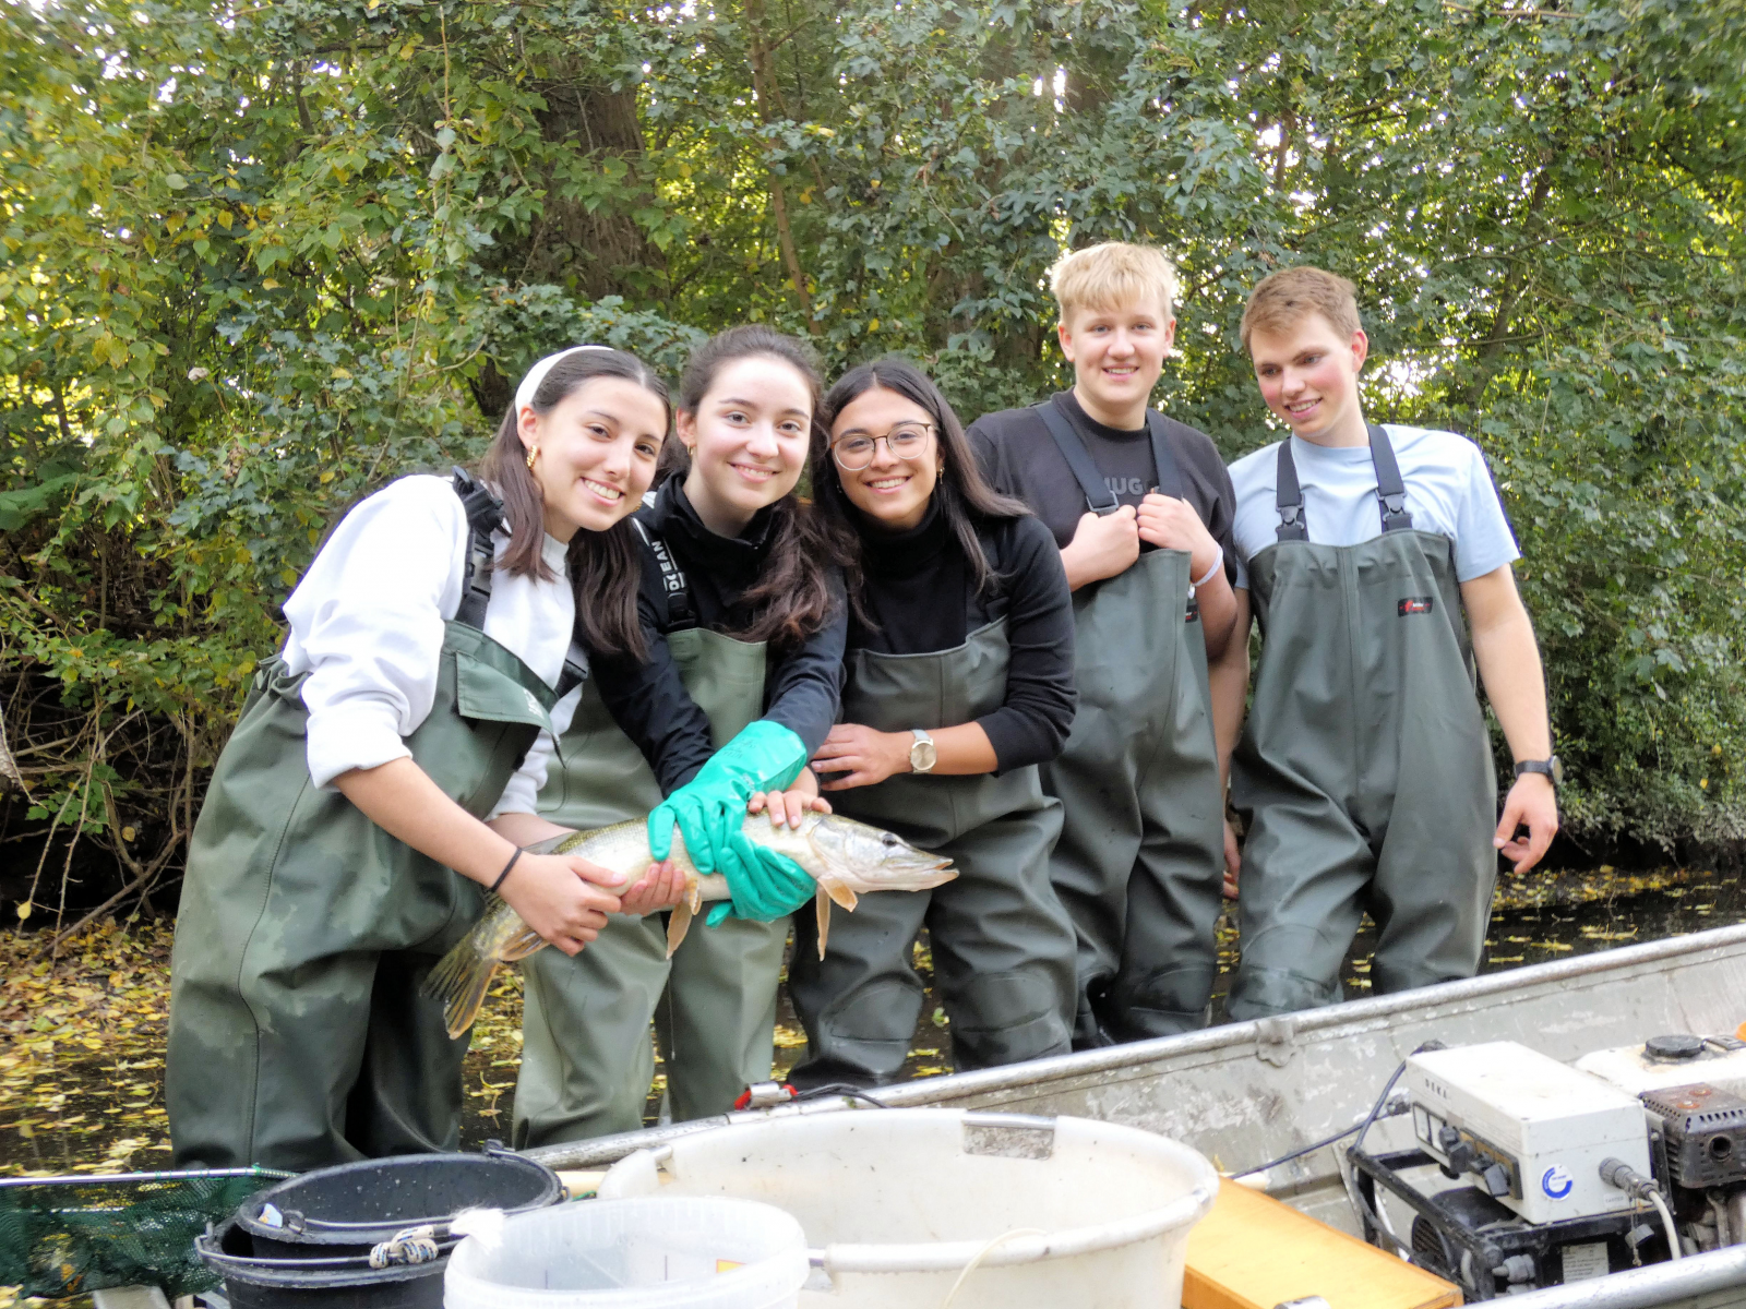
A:
[[[353,508],[285,602],[189,846],[166,1101],[178,1168],[311,1169],[454,1150],[461,1058],[430,967],[494,890],[580,951],[674,902],[520,846],[585,661],[639,648],[623,518],[667,436],[636,358],[578,347],[520,384],[478,478],[405,476]],[[585,597],[578,613],[576,595]]]

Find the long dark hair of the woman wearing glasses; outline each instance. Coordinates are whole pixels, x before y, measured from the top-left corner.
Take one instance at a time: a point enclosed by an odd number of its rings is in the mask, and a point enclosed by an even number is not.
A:
[[[838,415],[875,387],[894,391],[904,400],[920,405],[932,419],[936,440],[939,442],[939,457],[945,464],[939,482],[934,485],[934,499],[939,501],[939,511],[946,517],[946,525],[957,538],[959,550],[964,552],[964,559],[971,564],[978,593],[995,590],[1000,576],[988,565],[988,553],[983,550],[976,529],[990,522],[1021,518],[1030,513],[1023,501],[1002,496],[988,485],[976,463],[976,454],[971,450],[969,436],[964,435],[964,424],[959,422],[959,415],[952,412],[952,405],[927,374],[897,356],[887,356],[875,363],[863,363],[850,368],[836,379],[836,386],[831,387],[829,394],[824,396],[824,403],[819,405],[819,421],[814,424],[812,436],[812,466],[821,469],[822,476],[814,482],[814,497],[826,520],[833,527],[842,525],[836,539],[849,555],[849,562],[843,565],[849,579],[849,597],[861,621],[868,627],[878,625],[861,604],[861,532],[854,531],[854,503],[843,490],[842,473],[833,466],[829,449],[831,428],[836,426]]]

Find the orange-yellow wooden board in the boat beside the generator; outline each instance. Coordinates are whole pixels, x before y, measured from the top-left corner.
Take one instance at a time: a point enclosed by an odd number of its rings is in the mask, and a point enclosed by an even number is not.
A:
[[[1320,1295],[1329,1309],[1451,1309],[1461,1290],[1234,1182],[1189,1232],[1182,1309],[1273,1309]]]

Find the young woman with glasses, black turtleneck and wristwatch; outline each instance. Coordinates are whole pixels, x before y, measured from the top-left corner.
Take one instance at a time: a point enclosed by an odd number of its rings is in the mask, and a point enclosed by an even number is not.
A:
[[[819,407],[814,494],[852,560],[843,710],[812,768],[838,812],[950,855],[955,881],[863,897],[821,960],[796,918],[789,990],[800,1087],[903,1068],[922,1005],[925,925],[960,1070],[1065,1054],[1074,930],[1049,885],[1060,805],[1037,764],[1074,719],[1074,618],[1060,550],[983,480],[915,365],[845,375]]]

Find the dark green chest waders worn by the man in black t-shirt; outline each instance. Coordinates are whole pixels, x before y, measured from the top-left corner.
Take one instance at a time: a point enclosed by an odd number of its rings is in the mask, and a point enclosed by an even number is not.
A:
[[[1096,513],[1114,513],[1084,442],[1037,407]],[[1147,410],[1158,489],[1182,494],[1163,417]],[[1206,639],[1187,552],[1151,550],[1074,592],[1079,712],[1042,787],[1063,806],[1049,874],[1079,939],[1074,1047],[1206,1023],[1224,869]]]

